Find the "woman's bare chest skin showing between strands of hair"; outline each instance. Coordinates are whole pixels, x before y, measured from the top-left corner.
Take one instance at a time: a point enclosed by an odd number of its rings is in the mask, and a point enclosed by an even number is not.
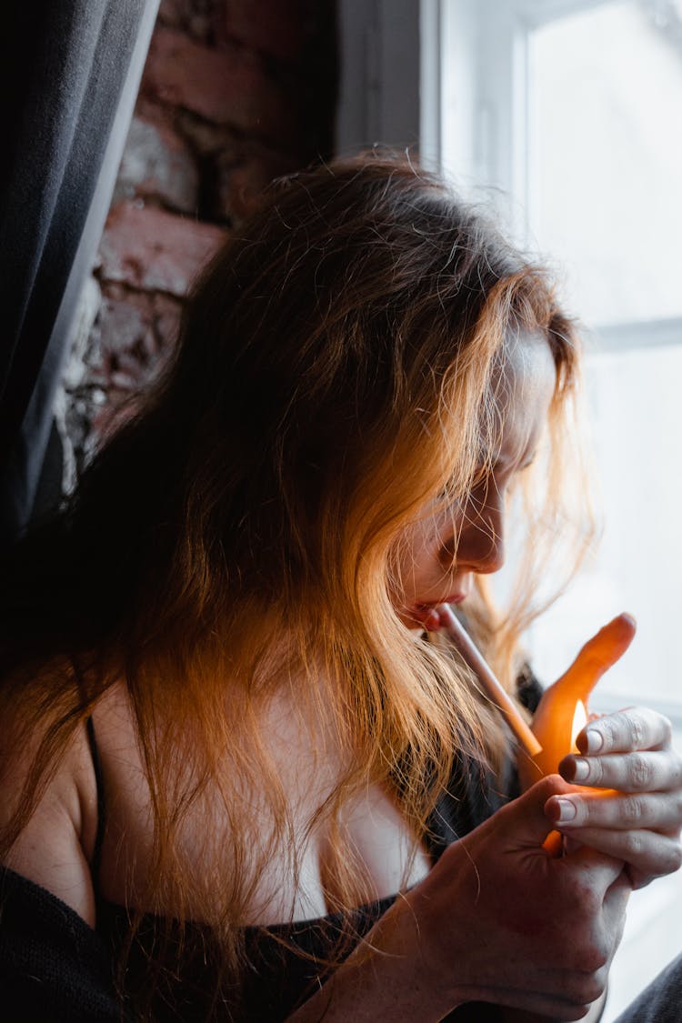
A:
[[[97,884],[108,901],[142,910],[201,919],[195,905],[141,904],[154,864],[151,796],[125,701],[109,699],[95,714],[105,793],[105,831]],[[325,805],[347,764],[319,720],[278,701],[262,721],[268,770],[227,792],[209,783],[180,815],[178,845],[186,869],[229,878],[233,860],[259,863],[243,924],[307,920],[329,911],[338,833]],[[178,764],[179,772],[182,763]],[[237,767],[238,769],[238,767]],[[232,779],[234,782],[234,779]],[[180,790],[182,787],[180,787]],[[173,797],[168,809],[173,812]],[[282,828],[281,822],[286,827]],[[388,791],[368,784],[345,801],[337,822],[353,850],[360,901],[395,894],[425,876],[429,860]],[[278,826],[279,825],[279,826]],[[235,844],[235,829],[246,841]],[[244,834],[240,837],[243,839]],[[249,863],[243,863],[245,874]],[[217,883],[220,883],[217,880]],[[162,893],[163,898],[163,893]]]

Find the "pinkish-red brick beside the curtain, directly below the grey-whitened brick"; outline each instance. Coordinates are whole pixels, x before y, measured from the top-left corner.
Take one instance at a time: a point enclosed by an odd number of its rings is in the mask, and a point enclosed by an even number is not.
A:
[[[226,231],[188,217],[121,203],[109,212],[100,242],[103,280],[182,298]]]

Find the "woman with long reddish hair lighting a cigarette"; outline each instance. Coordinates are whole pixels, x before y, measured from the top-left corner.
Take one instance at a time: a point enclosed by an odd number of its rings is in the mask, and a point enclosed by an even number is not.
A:
[[[596,1018],[629,891],[680,862],[670,726],[593,722],[567,781],[506,802],[511,743],[438,610],[537,703],[533,569],[586,539],[578,358],[545,274],[411,165],[273,188],[5,567],[17,1018]]]

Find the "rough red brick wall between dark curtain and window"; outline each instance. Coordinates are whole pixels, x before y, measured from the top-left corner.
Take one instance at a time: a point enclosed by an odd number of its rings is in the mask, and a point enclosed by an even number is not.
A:
[[[264,185],[331,151],[333,0],[162,0],[57,402],[75,474]]]

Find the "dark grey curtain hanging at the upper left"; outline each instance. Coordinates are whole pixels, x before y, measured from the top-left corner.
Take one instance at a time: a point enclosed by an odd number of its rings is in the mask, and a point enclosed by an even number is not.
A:
[[[157,7],[158,0],[3,4],[0,547],[32,514],[65,344],[107,213]]]

